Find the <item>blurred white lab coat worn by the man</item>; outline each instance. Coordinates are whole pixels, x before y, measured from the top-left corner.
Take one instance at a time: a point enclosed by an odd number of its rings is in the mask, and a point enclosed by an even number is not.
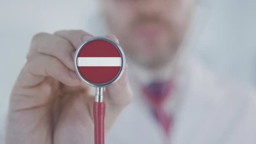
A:
[[[176,76],[179,90],[169,141],[130,80],[133,101],[107,134],[106,144],[256,144],[256,93],[185,57]]]

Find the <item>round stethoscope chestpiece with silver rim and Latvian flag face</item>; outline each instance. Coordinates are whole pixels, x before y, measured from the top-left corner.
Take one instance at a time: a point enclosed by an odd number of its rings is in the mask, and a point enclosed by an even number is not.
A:
[[[115,83],[125,68],[122,48],[107,37],[93,37],[82,43],[74,61],[80,80],[96,88]]]

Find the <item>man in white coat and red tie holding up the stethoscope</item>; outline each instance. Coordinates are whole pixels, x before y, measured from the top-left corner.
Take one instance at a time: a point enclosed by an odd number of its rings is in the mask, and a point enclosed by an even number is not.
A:
[[[215,76],[183,48],[197,1],[100,3],[116,36],[107,37],[119,42],[128,58],[134,94],[131,102],[127,72],[106,88],[109,144],[256,142],[255,93]],[[93,144],[93,97],[72,60],[91,37],[65,30],[32,38],[11,93],[7,144]]]

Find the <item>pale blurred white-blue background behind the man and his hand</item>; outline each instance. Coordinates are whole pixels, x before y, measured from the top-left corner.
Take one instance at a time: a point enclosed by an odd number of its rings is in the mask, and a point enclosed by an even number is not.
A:
[[[0,121],[31,37],[59,29],[90,32],[94,8],[94,0],[0,0]],[[200,37],[192,51],[214,71],[256,85],[256,1],[204,0],[198,9]]]

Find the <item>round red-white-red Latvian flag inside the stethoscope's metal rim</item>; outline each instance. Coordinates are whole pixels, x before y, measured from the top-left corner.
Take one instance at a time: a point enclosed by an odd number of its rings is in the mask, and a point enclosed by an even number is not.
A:
[[[117,48],[104,40],[94,40],[81,48],[77,57],[80,74],[92,83],[107,83],[120,71],[121,56]]]

